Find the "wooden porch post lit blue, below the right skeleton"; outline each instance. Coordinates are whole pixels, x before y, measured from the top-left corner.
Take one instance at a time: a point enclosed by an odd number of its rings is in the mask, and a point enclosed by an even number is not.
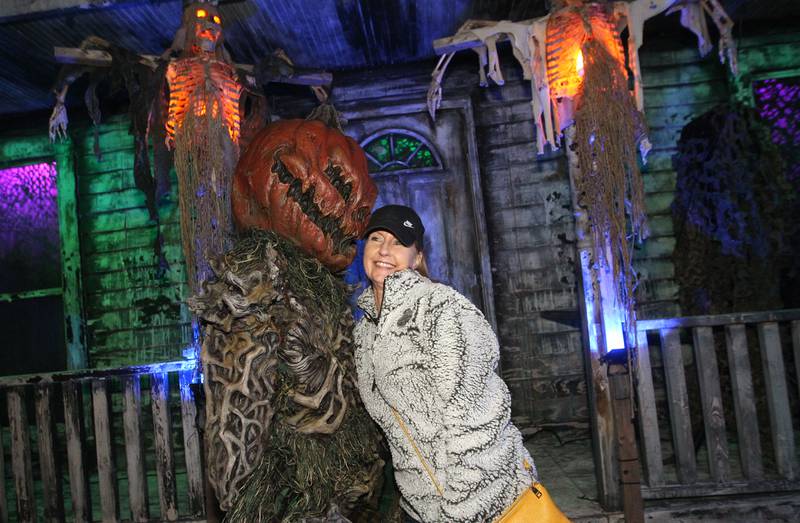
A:
[[[607,510],[622,507],[619,487],[619,464],[617,461],[617,439],[614,428],[614,406],[608,381],[608,365],[601,361],[606,353],[602,297],[600,282],[591,264],[592,239],[589,218],[578,205],[575,185],[580,172],[578,155],[572,150],[575,142],[575,126],[564,131],[572,208],[575,213],[576,251],[580,270],[578,273],[578,306],[581,313],[581,331],[584,346],[589,416],[592,426],[592,451],[597,475],[598,497]]]

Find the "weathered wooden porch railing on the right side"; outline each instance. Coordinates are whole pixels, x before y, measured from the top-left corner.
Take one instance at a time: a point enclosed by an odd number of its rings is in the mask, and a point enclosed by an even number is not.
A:
[[[800,490],[800,309],[638,330],[645,499]]]

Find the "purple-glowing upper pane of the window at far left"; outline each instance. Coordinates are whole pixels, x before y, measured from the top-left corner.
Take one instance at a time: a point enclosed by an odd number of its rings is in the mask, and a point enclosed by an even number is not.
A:
[[[0,169],[0,292],[61,285],[55,162]]]

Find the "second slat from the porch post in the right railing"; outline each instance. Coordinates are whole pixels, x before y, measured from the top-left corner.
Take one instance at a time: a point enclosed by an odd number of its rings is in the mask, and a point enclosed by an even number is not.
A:
[[[694,455],[692,420],[689,414],[680,335],[677,329],[661,329],[660,334],[678,481],[684,485],[692,484],[697,480],[697,462]]]

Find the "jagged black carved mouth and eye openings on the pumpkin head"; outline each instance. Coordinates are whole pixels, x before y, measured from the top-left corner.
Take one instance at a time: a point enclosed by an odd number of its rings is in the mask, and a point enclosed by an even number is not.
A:
[[[334,254],[348,254],[355,248],[356,236],[348,234],[344,230],[344,216],[337,216],[335,214],[325,214],[325,212],[314,202],[315,186],[312,184],[308,189],[303,191],[303,182],[294,176],[291,171],[286,167],[279,154],[275,154],[275,162],[272,164],[272,173],[278,177],[278,180],[287,185],[287,192],[289,198],[294,200],[303,211],[303,214],[308,218],[325,237],[331,240]],[[336,189],[342,199],[347,202],[352,194],[353,184],[345,181],[342,176],[342,168],[328,162],[328,166],[323,171],[327,176],[331,185]],[[355,212],[354,218],[363,221],[369,209],[362,207]]]

